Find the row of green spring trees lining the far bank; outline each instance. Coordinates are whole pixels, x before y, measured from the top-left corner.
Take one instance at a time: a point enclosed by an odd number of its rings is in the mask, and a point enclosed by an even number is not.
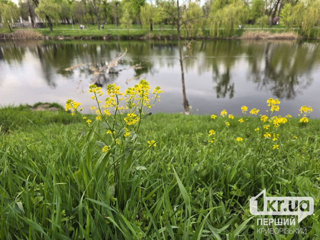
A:
[[[201,36],[205,28],[210,35],[230,36],[235,29],[250,24],[264,27],[281,24],[299,28],[303,36],[314,34],[320,23],[320,0],[0,0],[0,19],[11,30],[12,23],[36,17],[50,30],[54,23],[77,23],[86,27],[114,24],[130,29],[132,24],[143,28],[177,27],[184,36]],[[177,20],[179,19],[179,20]],[[317,30],[316,30],[317,31]]]

